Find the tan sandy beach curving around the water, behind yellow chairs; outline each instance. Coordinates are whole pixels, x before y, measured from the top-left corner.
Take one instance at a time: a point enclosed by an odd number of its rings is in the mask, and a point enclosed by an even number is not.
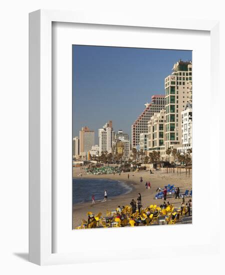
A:
[[[79,174],[82,172],[82,178],[91,177],[91,178],[108,178],[115,179],[125,182],[127,185],[132,187],[132,190],[124,195],[119,195],[116,197],[110,197],[108,194],[108,200],[103,202],[103,192],[102,190],[102,200],[95,201],[95,204],[91,204],[90,202],[78,203],[73,205],[73,218],[72,223],[75,228],[81,223],[81,219],[86,219],[86,212],[91,211],[94,214],[98,212],[102,212],[105,215],[106,210],[114,210],[118,205],[129,205],[131,199],[136,200],[137,194],[141,194],[141,204],[143,207],[146,207],[150,204],[160,205],[163,203],[163,199],[153,199],[156,194],[157,187],[163,188],[167,184],[174,184],[175,187],[180,188],[180,194],[182,194],[185,189],[192,188],[192,177],[190,170],[190,177],[188,177],[188,172],[186,174],[185,169],[181,169],[181,173],[178,169],[174,169],[171,172],[166,172],[166,168],[160,168],[159,170],[153,170],[153,174],[150,174],[149,171],[141,171],[141,172],[124,172],[119,174],[105,174],[105,175],[88,175],[85,174],[84,170],[80,170],[79,167],[73,167],[73,178],[80,177]],[[129,179],[127,175],[129,174]],[[140,183],[140,176],[143,178],[143,182]],[[148,190],[145,188],[145,182],[150,181],[151,188]],[[167,195],[166,201],[173,203],[175,207],[178,207],[181,204],[181,197],[175,199],[173,195]],[[185,198],[185,202],[187,198]]]

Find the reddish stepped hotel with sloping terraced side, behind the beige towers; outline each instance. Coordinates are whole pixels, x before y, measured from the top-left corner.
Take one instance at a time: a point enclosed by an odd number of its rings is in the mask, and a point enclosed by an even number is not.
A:
[[[131,146],[139,145],[140,133],[147,132],[147,122],[155,112],[165,108],[165,95],[152,95],[151,102],[144,104],[145,108],[131,125]]]

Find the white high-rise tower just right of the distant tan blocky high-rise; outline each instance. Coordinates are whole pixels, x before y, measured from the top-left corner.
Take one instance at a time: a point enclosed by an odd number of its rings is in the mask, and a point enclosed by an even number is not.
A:
[[[102,128],[98,129],[99,138],[99,154],[101,152],[109,152],[112,147],[112,141],[115,138],[115,132],[112,128],[112,121],[106,122]]]

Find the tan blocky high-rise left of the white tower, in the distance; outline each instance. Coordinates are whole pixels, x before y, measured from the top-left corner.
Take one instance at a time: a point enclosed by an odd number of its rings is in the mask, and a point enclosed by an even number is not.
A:
[[[79,153],[88,152],[94,145],[94,131],[87,126],[79,131]]]

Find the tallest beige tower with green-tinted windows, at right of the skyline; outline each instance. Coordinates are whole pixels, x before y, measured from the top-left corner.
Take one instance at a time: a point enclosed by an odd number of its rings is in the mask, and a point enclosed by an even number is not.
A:
[[[192,63],[179,60],[165,78],[165,149],[182,144],[181,111],[192,98]]]

